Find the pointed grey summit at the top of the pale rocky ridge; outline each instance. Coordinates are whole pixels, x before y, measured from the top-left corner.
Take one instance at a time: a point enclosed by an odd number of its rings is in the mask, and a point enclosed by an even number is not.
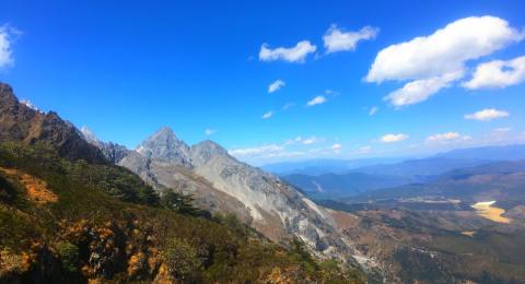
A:
[[[160,162],[191,166],[189,146],[168,127],[163,127],[136,150],[142,156]]]

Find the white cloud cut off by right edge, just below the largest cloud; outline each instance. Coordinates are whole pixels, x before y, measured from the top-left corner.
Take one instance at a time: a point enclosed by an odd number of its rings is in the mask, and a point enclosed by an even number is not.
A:
[[[512,60],[493,60],[476,68],[472,79],[463,86],[470,90],[497,88],[525,82],[525,56]]]

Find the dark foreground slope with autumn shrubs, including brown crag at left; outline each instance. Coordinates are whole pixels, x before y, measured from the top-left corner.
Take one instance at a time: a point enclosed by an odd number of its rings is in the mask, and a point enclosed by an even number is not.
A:
[[[315,261],[299,239],[277,245],[232,216],[180,204],[180,196],[160,198],[73,126],[56,114],[40,123],[49,114],[2,86],[10,99],[0,100],[1,283],[360,281]]]

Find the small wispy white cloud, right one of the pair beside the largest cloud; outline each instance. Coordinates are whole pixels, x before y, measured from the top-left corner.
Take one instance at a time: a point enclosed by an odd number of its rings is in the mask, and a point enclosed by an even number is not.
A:
[[[323,36],[326,52],[355,50],[360,40],[374,39],[380,32],[378,28],[365,26],[358,32],[343,32],[332,24]]]

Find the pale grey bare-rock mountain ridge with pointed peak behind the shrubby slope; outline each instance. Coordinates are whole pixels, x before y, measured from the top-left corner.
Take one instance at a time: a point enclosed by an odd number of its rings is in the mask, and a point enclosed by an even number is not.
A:
[[[237,161],[213,141],[188,146],[173,130],[162,128],[116,164],[159,190],[191,193],[197,205],[234,213],[270,239],[295,235],[318,252],[351,259],[350,241],[339,234],[330,212],[279,178]]]

